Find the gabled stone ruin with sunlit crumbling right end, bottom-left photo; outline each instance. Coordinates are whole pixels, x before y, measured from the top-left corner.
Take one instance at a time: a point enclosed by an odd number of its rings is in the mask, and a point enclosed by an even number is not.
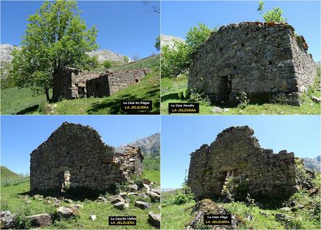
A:
[[[93,128],[65,122],[32,151],[30,187],[110,190],[133,174],[142,174],[143,159],[138,147],[127,146],[124,153],[116,153]]]

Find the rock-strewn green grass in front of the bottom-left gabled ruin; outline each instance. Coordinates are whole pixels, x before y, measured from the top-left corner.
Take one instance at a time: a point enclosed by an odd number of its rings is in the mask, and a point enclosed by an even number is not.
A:
[[[156,171],[154,171],[156,174]],[[154,181],[153,176],[149,177],[150,172],[148,170],[144,171],[141,177],[149,178],[149,180]],[[158,171],[159,181],[159,171]],[[155,175],[154,175],[155,176]],[[154,181],[157,182],[157,181]],[[20,216],[26,215],[36,215],[38,213],[53,213],[55,208],[52,204],[47,204],[45,199],[39,201],[29,198],[31,201],[27,203],[23,199],[20,199],[20,195],[27,194],[29,192],[29,182],[20,183],[18,185],[10,185],[6,187],[1,187],[1,210],[10,210],[11,213],[18,213]],[[110,215],[135,215],[137,217],[137,225],[130,227],[130,229],[154,229],[147,222],[148,213],[150,211],[154,213],[159,213],[158,203],[151,203],[151,208],[147,210],[142,210],[135,207],[135,202],[131,201],[130,206],[127,210],[118,210],[114,208],[109,202],[100,203],[96,201],[85,200],[74,200],[73,204],[82,204],[84,208],[80,209],[80,218],[74,220],[62,220],[54,222],[54,224],[47,227],[48,229],[124,229],[124,227],[112,227],[108,225],[108,216]],[[70,206],[66,202],[61,202],[61,206]],[[95,221],[89,220],[89,215],[96,215],[97,219]]]

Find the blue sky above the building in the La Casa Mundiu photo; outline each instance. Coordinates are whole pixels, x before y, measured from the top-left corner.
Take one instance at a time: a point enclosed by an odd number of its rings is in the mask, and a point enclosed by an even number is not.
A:
[[[185,38],[191,26],[198,22],[214,28],[230,23],[255,22],[258,1],[162,1],[161,33]],[[264,1],[264,12],[281,7],[283,16],[303,35],[308,52],[320,61],[320,1]]]

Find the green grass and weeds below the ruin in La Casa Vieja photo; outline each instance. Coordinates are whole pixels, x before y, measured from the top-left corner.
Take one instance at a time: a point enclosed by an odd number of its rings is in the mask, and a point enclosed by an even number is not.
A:
[[[319,174],[315,178],[318,191],[320,191],[320,182]],[[161,194],[162,229],[185,229],[186,224],[191,222],[195,201],[174,205],[170,202],[174,194],[176,192],[173,191]],[[271,201],[274,202],[273,199]],[[294,204],[290,210],[283,210],[281,207],[259,208],[239,201],[222,203],[218,200],[215,203],[241,220],[238,229],[320,229],[320,192],[311,194],[308,190],[299,190],[283,204],[283,206]],[[276,213],[287,215],[290,221],[276,221]],[[248,215],[253,219],[248,219]]]

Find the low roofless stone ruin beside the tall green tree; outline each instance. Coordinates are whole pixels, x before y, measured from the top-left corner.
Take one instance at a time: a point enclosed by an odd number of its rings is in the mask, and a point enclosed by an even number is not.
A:
[[[140,82],[151,70],[140,68],[121,72],[81,72],[75,68],[61,71],[54,81],[54,100],[106,97]]]

